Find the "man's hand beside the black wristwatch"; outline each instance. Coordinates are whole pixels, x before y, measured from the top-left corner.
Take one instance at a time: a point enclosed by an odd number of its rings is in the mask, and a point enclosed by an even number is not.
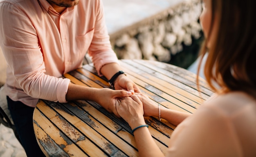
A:
[[[124,74],[119,75],[115,80],[115,90],[127,90],[134,94],[135,92],[140,93],[139,87]]]

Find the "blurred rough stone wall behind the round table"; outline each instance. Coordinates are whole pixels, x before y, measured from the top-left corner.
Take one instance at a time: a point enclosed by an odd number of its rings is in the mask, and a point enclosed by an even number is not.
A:
[[[182,43],[198,39],[201,0],[185,0],[153,17],[110,34],[112,47],[120,59],[147,59],[168,62],[182,51]]]

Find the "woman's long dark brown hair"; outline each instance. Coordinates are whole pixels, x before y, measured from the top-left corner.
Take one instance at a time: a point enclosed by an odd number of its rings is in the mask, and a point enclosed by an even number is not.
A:
[[[200,52],[202,58],[208,53],[204,67],[206,81],[215,92],[243,91],[256,98],[255,1],[211,0],[211,4],[212,21],[208,39],[213,35],[214,22],[217,22],[218,28],[211,48],[207,49],[206,39]],[[214,83],[221,90],[217,90]]]

